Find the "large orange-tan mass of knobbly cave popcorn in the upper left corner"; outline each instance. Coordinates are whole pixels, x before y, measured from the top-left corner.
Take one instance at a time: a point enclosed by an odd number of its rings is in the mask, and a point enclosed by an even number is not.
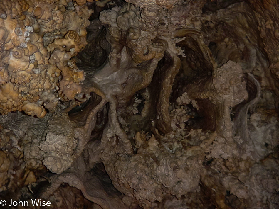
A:
[[[85,2],[0,1],[1,114],[41,118],[80,93],[84,73],[70,59],[86,44]]]

